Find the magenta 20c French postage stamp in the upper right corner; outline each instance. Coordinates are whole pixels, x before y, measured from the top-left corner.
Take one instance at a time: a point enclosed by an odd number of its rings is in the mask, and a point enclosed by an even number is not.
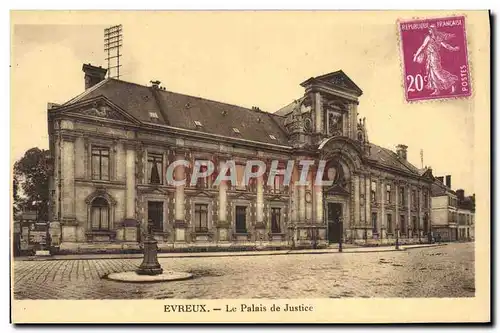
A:
[[[398,25],[407,101],[471,95],[464,16]]]

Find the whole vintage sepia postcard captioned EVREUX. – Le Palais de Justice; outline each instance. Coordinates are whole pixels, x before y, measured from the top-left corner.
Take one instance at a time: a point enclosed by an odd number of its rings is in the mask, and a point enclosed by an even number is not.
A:
[[[12,12],[12,321],[489,322],[489,34]]]

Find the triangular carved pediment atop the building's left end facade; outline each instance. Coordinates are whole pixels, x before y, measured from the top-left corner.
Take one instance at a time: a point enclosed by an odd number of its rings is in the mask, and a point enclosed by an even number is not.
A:
[[[75,103],[69,107],[60,108],[58,111],[65,114],[88,116],[90,118],[95,117],[125,123],[139,123],[139,120],[104,96]]]

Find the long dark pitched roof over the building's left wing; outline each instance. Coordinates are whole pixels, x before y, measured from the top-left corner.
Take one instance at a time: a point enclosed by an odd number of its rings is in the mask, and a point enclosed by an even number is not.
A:
[[[64,105],[99,96],[106,97],[142,122],[152,122],[150,112],[155,112],[159,124],[270,144],[288,144],[285,118],[279,115],[116,79],[106,79]],[[197,126],[195,121],[202,126]]]

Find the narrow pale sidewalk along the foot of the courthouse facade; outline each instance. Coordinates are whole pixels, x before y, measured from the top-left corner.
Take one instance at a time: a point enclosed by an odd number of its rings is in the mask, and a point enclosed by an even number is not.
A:
[[[446,243],[439,244],[412,244],[400,245],[399,250],[396,250],[394,245],[391,246],[370,246],[370,247],[352,247],[347,245],[343,248],[342,253],[363,253],[363,252],[389,252],[389,251],[406,251],[423,247],[444,246]],[[245,256],[270,256],[270,255],[287,255],[287,254],[325,254],[339,253],[338,247],[330,247],[327,249],[303,249],[303,250],[266,250],[266,251],[238,251],[238,252],[196,252],[196,253],[158,253],[158,258],[200,258],[200,257],[245,257]],[[63,254],[53,255],[48,257],[16,257],[16,261],[46,261],[46,260],[96,260],[96,259],[140,259],[143,258],[142,253],[131,254]]]

